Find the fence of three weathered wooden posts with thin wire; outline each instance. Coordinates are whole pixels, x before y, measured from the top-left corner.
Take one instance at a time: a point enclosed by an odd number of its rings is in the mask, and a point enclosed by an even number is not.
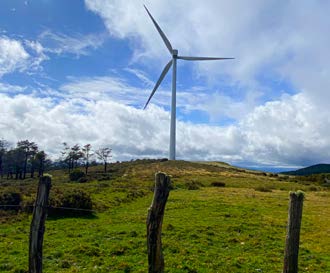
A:
[[[41,177],[38,185],[37,198],[33,206],[33,217],[30,226],[29,273],[42,273],[42,244],[50,188],[51,177]],[[149,273],[164,272],[165,262],[162,253],[161,231],[170,188],[170,177],[164,173],[156,173],[154,197],[148,210],[146,221]],[[299,236],[303,200],[304,194],[302,192],[298,191],[290,193],[283,273],[298,272]],[[59,209],[83,210],[66,207],[59,207]]]

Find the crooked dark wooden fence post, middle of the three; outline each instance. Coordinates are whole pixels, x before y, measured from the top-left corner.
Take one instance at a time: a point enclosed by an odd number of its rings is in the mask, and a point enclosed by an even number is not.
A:
[[[166,201],[170,192],[170,177],[164,173],[155,175],[154,198],[147,217],[147,245],[149,273],[164,272],[164,257],[162,253],[162,223]]]

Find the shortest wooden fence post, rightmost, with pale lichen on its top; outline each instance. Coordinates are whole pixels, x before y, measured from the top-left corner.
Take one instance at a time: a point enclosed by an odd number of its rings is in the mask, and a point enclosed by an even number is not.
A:
[[[289,216],[285,240],[283,273],[298,272],[299,237],[304,192],[290,192]]]

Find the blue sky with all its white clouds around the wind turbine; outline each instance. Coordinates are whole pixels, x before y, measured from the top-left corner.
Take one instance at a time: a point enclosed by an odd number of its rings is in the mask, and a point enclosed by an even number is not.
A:
[[[0,138],[167,157],[170,76],[142,108],[170,56],[143,4],[182,55],[235,57],[178,62],[179,159],[330,163],[329,1],[2,0]]]

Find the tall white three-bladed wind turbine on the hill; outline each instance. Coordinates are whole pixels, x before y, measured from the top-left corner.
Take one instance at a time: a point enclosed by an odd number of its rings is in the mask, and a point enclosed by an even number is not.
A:
[[[167,39],[166,35],[160,28],[160,26],[157,24],[156,20],[152,17],[151,13],[147,9],[146,6],[144,6],[146,9],[151,21],[155,25],[159,35],[162,37],[168,51],[172,55],[172,59],[165,65],[163,72],[160,74],[160,77],[158,81],[155,84],[154,89],[152,90],[149,99],[144,106],[143,109],[146,109],[148,106],[152,96],[155,94],[157,88],[161,84],[162,80],[164,79],[165,75],[167,72],[170,70],[171,66],[173,65],[172,68],[172,105],[171,105],[171,128],[170,128],[170,151],[169,151],[169,159],[170,160],[175,160],[175,127],[176,127],[176,61],[177,59],[180,60],[185,60],[185,61],[214,61],[214,60],[229,60],[229,59],[234,59],[234,58],[218,58],[218,57],[192,57],[192,56],[179,56],[178,55],[178,50],[173,49],[170,41]]]

